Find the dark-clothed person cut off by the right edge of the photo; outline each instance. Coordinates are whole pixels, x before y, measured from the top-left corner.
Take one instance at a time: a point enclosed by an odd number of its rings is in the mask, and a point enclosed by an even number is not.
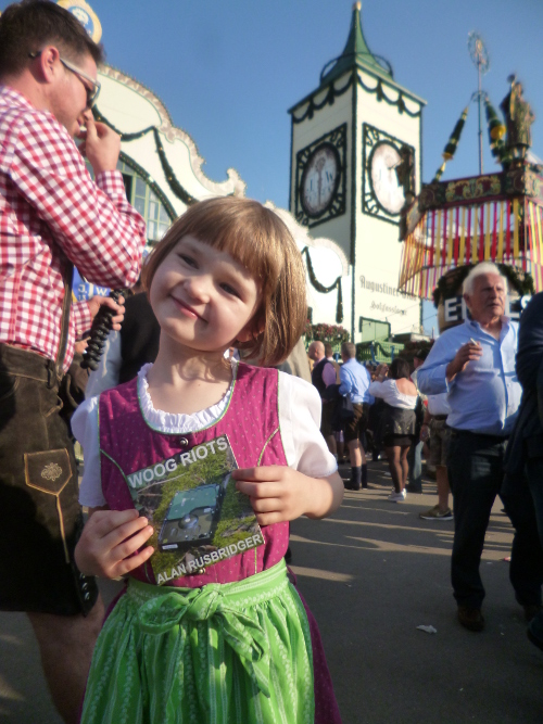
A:
[[[515,526],[510,580],[528,590],[517,600],[529,622],[528,637],[543,649],[543,293],[520,317],[516,370],[522,385],[517,422],[505,455],[502,499]]]

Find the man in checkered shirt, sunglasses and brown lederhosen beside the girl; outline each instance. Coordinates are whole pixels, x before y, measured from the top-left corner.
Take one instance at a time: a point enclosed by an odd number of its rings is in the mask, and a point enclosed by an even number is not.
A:
[[[121,140],[90,111],[101,61],[53,2],[0,16],[0,609],[28,613],[66,722],[77,721],[103,613],[73,560],[81,515],[58,397],[99,303],[70,309],[68,279],[74,264],[96,284],[131,285],[146,241],[115,170]],[[118,322],[123,308],[105,304]]]

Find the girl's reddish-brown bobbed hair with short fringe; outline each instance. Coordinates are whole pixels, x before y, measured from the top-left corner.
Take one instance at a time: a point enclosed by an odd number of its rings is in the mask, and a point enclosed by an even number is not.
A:
[[[281,219],[251,199],[222,196],[190,206],[147,258],[142,283],[148,294],[159,266],[188,234],[231,254],[260,288],[254,339],[236,343],[238,348],[266,367],[283,361],[303,333],[307,306],[302,256]]]

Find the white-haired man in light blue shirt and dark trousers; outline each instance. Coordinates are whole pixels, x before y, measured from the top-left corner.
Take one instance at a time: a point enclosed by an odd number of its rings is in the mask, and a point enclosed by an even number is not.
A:
[[[521,389],[515,373],[518,326],[504,316],[506,279],[494,264],[481,263],[469,271],[463,293],[469,318],[439,336],[417,379],[425,394],[449,392],[451,577],[458,621],[477,632],[484,627],[479,572],[484,534],[502,485],[505,447]],[[516,592],[522,600],[521,581],[516,582]]]

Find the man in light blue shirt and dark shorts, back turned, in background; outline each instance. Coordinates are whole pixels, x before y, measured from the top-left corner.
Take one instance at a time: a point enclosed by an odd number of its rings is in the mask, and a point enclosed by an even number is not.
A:
[[[352,342],[341,345],[339,394],[351,399],[353,417],[345,421],[345,442],[351,460],[351,481],[349,490],[359,491],[368,486],[368,466],[364,449],[364,433],[368,425],[369,408],[374,397],[368,392],[371,378],[367,369],[356,360],[356,346]]]

